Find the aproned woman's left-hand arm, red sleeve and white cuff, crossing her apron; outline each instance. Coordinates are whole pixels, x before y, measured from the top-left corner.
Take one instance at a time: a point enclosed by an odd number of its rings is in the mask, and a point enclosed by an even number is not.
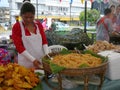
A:
[[[12,28],[12,39],[18,53],[22,54],[23,56],[27,57],[29,60],[33,62],[35,58],[32,55],[30,55],[29,52],[26,51],[23,45],[21,27],[19,22],[17,22]]]

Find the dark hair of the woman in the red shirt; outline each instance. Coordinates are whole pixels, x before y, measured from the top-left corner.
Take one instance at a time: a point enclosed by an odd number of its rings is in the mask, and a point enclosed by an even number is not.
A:
[[[26,12],[31,12],[35,15],[35,7],[29,2],[23,3],[20,9],[20,15],[25,14]]]

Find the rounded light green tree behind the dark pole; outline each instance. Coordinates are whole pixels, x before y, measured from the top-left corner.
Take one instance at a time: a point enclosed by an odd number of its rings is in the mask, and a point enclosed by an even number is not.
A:
[[[92,9],[92,10],[87,10],[87,21],[91,24],[95,24],[95,22],[97,21],[97,19],[100,17],[100,12],[97,11],[96,9]],[[84,24],[85,21],[85,12],[82,11],[80,13],[80,21],[82,22],[82,24]]]

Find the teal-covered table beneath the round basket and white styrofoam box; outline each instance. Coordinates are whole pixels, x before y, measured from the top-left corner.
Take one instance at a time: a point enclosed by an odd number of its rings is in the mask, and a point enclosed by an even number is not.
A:
[[[52,83],[52,82],[51,82]],[[43,90],[53,90],[52,88],[48,87],[45,81],[42,81]],[[79,85],[76,88],[71,89],[64,89],[64,90],[83,90],[83,86]],[[97,90],[97,86],[89,85],[89,90]],[[109,80],[105,77],[105,80],[102,85],[102,90],[120,90],[120,80]]]

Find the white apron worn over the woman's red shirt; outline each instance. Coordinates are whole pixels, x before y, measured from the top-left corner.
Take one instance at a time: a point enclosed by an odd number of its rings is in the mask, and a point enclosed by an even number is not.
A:
[[[37,27],[36,34],[31,33],[30,36],[25,35],[25,30],[22,22],[20,22],[21,26],[21,33],[22,33],[22,41],[25,49],[27,52],[29,52],[33,57],[35,57],[38,60],[41,60],[41,58],[45,55],[42,47],[42,37],[39,32],[39,28]],[[27,68],[34,67],[33,62],[28,60],[26,57],[24,57],[21,54],[18,54],[18,64],[25,66]]]

